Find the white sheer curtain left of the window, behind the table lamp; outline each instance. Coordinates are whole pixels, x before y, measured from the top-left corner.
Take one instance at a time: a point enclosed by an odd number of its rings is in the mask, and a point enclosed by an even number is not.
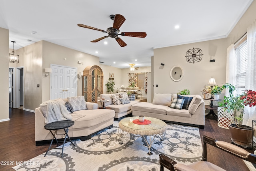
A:
[[[226,83],[229,84],[236,84],[236,54],[234,44],[231,44],[227,48],[227,68],[226,68]],[[236,93],[236,92],[234,92]],[[229,95],[229,91],[226,90],[226,96]]]

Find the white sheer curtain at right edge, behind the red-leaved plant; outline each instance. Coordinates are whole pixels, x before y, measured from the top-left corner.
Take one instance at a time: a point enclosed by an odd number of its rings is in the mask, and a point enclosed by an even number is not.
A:
[[[245,89],[256,90],[256,20],[247,28],[247,70]],[[252,126],[252,120],[256,120],[255,107],[245,106],[243,124]]]

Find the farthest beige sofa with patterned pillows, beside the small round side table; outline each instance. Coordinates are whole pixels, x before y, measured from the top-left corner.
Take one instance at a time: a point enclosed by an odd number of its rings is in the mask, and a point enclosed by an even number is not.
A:
[[[125,92],[122,92],[122,93],[125,93]],[[132,113],[132,109],[131,109],[132,105],[140,103],[140,101],[130,101],[130,103],[127,103],[127,104],[114,105],[112,101],[112,95],[120,95],[122,93],[101,94],[100,97],[98,97],[98,99],[102,99],[102,97],[104,97],[106,100],[109,100],[109,102],[104,103],[104,106],[115,111],[114,119],[117,121],[122,119],[124,116]],[[102,102],[98,101],[97,103],[98,103],[98,107],[100,108],[103,107]]]

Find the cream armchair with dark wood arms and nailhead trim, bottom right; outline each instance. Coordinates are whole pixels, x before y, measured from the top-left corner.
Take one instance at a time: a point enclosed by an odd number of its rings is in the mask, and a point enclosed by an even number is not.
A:
[[[218,141],[216,139],[212,139],[204,135],[202,161],[198,161],[190,165],[184,165],[181,163],[177,163],[176,161],[170,159],[166,155],[160,154],[159,155],[160,171],[164,171],[164,167],[166,167],[170,171],[225,171],[224,169],[218,167],[217,165],[214,165],[207,161],[206,144],[210,144],[240,159],[250,161],[256,164],[256,155],[251,154],[245,149],[242,149],[236,145],[233,145],[224,141]]]

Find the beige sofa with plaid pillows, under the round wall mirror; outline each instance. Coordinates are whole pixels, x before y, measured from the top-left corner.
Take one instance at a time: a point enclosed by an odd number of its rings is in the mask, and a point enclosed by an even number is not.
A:
[[[193,97],[188,109],[172,109],[170,105],[177,94],[154,94],[152,103],[141,102],[132,105],[132,115],[155,117],[172,123],[192,125],[204,128],[204,101],[200,95],[182,95]]]

